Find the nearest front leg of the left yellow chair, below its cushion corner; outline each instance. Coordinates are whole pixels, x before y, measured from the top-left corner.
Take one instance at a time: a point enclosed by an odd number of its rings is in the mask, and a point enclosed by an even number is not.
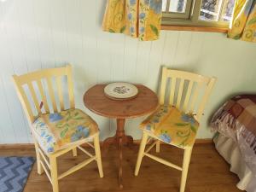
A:
[[[49,156],[49,166],[53,192],[59,192],[58,171],[55,155]]]

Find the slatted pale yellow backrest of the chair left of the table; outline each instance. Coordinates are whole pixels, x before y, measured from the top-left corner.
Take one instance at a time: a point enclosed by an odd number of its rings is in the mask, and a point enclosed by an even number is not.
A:
[[[67,91],[69,108],[75,108],[71,65],[13,75],[13,80],[26,117],[31,123],[38,114],[65,110],[63,84],[67,84],[64,91]]]

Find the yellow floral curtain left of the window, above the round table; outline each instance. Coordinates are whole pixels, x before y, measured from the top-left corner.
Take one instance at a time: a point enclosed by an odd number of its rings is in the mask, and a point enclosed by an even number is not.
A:
[[[102,29],[152,41],[159,38],[162,0],[108,0]]]

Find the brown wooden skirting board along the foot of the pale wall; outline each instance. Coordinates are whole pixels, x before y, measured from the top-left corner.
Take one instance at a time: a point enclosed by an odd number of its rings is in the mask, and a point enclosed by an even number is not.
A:
[[[101,142],[102,145],[103,142]],[[141,140],[134,140],[134,144],[139,144],[141,143]],[[213,140],[212,138],[207,138],[207,139],[196,139],[195,144],[212,144]],[[166,143],[162,143],[166,144]],[[0,144],[0,149],[11,149],[11,148],[34,148],[33,143],[14,143],[14,144]]]

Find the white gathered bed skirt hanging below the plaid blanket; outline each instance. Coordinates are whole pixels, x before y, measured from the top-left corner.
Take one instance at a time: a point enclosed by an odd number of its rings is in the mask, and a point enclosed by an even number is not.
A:
[[[236,173],[240,182],[236,184],[238,189],[247,192],[256,192],[256,176],[250,171],[244,159],[241,157],[240,148],[230,137],[219,134],[213,139],[218,153],[230,163],[230,172]]]

